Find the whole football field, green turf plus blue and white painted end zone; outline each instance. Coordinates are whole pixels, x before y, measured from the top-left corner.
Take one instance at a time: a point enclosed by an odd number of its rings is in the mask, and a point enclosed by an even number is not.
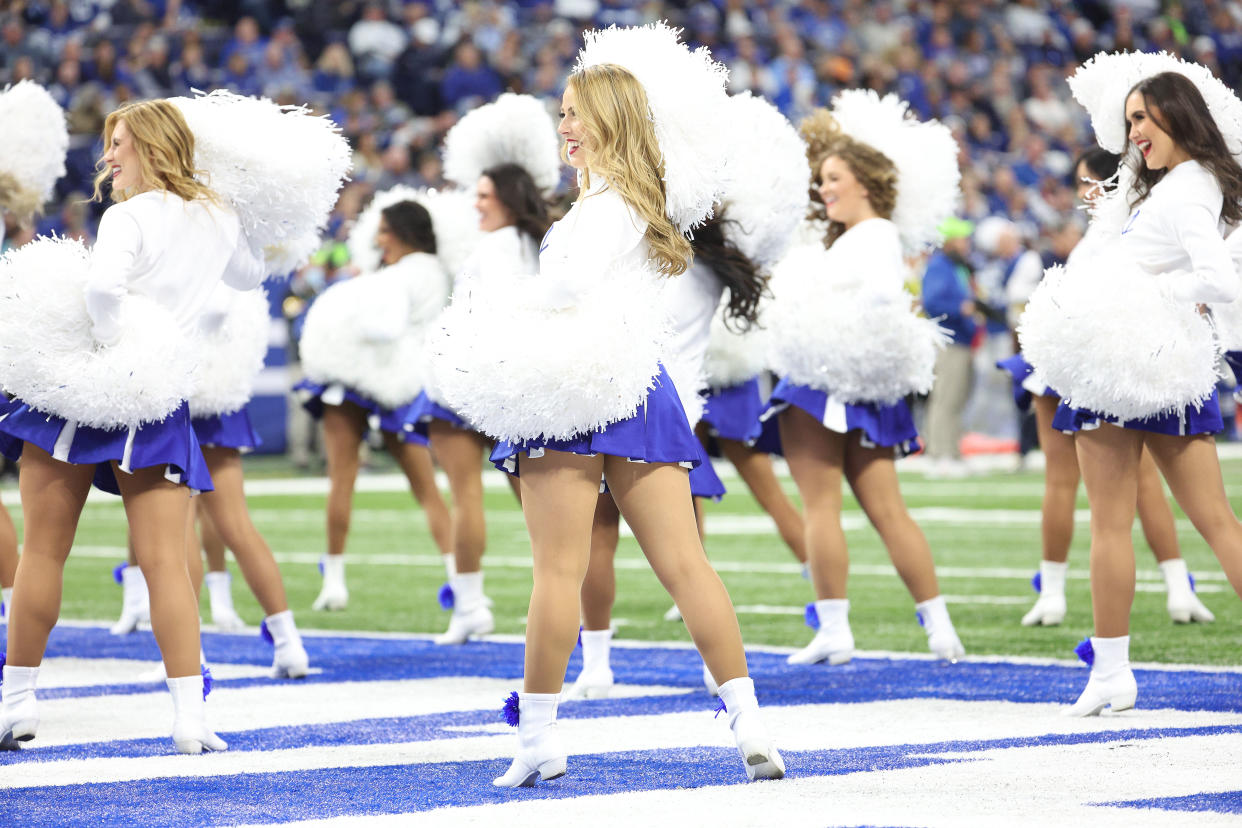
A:
[[[1242,506],[1242,454],[1222,464]],[[632,538],[619,554],[612,699],[564,703],[561,780],[489,785],[507,766],[499,716],[522,674],[530,590],[522,514],[488,473],[487,592],[497,636],[436,647],[447,624],[443,567],[412,499],[380,456],[359,480],[348,552],[349,608],[309,610],[323,550],[325,482],[247,461],[253,516],[284,572],[312,675],[266,678],[257,631],[214,632],[204,649],[212,725],[226,754],[171,756],[171,704],[138,675],[158,659],[149,631],[118,638],[112,570],[124,556],[119,500],[92,498],[66,569],[62,618],[41,674],[39,737],[0,755],[0,803],[30,824],[256,824],[386,818],[392,824],[1226,824],[1242,821],[1242,602],[1179,513],[1182,552],[1217,621],[1174,626],[1135,530],[1139,592],[1131,659],[1138,708],[1069,720],[1087,678],[1073,647],[1090,632],[1086,499],[1071,556],[1069,614],[1023,628],[1040,555],[1037,470],[930,480],[903,462],[907,502],[932,542],[969,657],[941,664],[883,546],[847,498],[850,665],[791,667],[812,634],[812,598],[770,521],[724,474],[708,505],[708,554],[733,596],[782,782],[745,785],[700,662]],[[728,469],[722,468],[722,472]],[[791,482],[785,479],[789,490]],[[0,497],[17,519],[12,488]],[[237,610],[261,613],[235,571]],[[204,617],[210,621],[204,600]],[[580,659],[570,664],[570,679]],[[416,813],[417,812],[417,813]],[[416,813],[416,816],[415,816]]]

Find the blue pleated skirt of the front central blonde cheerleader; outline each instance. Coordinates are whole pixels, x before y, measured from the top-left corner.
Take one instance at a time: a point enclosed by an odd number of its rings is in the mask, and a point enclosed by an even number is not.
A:
[[[638,411],[626,420],[568,439],[499,441],[492,462],[501,470],[518,473],[518,457],[540,457],[544,451],[571,454],[609,454],[640,463],[678,463],[688,469],[704,461],[703,447],[691,431],[686,410],[664,366]],[[722,487],[723,488],[723,487]]]

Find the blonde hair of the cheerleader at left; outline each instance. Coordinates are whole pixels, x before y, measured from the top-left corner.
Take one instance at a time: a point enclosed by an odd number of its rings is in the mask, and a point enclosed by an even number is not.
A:
[[[103,122],[104,153],[112,144],[112,133],[122,120],[134,142],[138,169],[144,182],[186,201],[206,199],[214,204],[220,202],[220,197],[204,184],[206,173],[194,168],[194,133],[185,123],[185,115],[171,102],[163,98],[137,101],[112,112]],[[102,156],[96,166],[99,171],[94,176],[93,199],[101,201],[103,184],[111,179],[112,171]],[[112,200],[124,201],[132,195],[134,194],[113,189]]]

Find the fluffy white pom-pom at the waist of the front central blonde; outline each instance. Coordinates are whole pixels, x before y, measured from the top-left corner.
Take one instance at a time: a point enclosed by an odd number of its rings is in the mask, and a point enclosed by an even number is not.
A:
[[[428,336],[437,396],[491,437],[564,439],[647,398],[668,339],[650,272],[610,274],[571,308],[548,304],[538,278],[481,278]],[[514,319],[525,320],[522,336]]]

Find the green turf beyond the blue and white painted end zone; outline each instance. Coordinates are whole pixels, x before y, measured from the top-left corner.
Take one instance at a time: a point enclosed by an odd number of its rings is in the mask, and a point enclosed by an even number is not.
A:
[[[376,470],[390,470],[386,458],[374,458]],[[1225,461],[1226,485],[1242,493],[1242,461]],[[251,458],[247,461],[251,479],[292,477],[297,472],[283,459]],[[489,474],[493,474],[489,472]],[[1006,473],[972,477],[965,480],[925,480],[918,474],[902,475],[907,503],[912,509],[953,508],[969,510],[1037,511],[1042,478],[1040,473]],[[792,490],[792,485],[787,487]],[[760,514],[758,505],[741,493],[740,482],[723,503],[708,504],[708,515]],[[4,489],[9,492],[9,489]],[[11,498],[9,503],[11,504]],[[322,552],[324,498],[317,495],[252,497],[255,521],[273,550],[294,560],[282,562],[291,606],[304,628],[370,629],[399,632],[440,632],[447,613],[436,603],[436,592],[443,581],[443,570],[435,557],[421,511],[412,499],[401,493],[359,493],[349,540],[349,551],[359,556],[399,556],[396,562],[355,562],[349,566],[350,605],[345,612],[312,612],[319,587],[314,557]],[[1235,499],[1235,506],[1242,500]],[[1079,509],[1086,509],[1081,497]],[[530,595],[530,571],[524,564],[529,557],[522,514],[513,497],[504,490],[487,495],[489,516],[488,554],[504,566],[487,567],[487,592],[496,603],[497,632],[522,633]],[[10,511],[21,526],[20,510]],[[1220,575],[1211,551],[1189,528],[1181,513],[1179,535],[1182,554],[1191,571]],[[861,511],[846,498],[846,519],[857,523]],[[1023,628],[1018,618],[1035,600],[1030,574],[1037,569],[1040,556],[1038,526],[1030,523],[1004,525],[924,524],[936,564],[944,567],[1010,567],[1021,571],[1015,577],[961,577],[941,575],[941,591],[948,596],[1012,596],[1022,603],[985,605],[951,603],[950,610],[968,652],[1005,655],[1052,655],[1069,658],[1074,644],[1090,632],[1090,600],[1086,578],[1072,578],[1068,585],[1069,614],[1054,628]],[[874,570],[887,565],[888,556],[874,530],[862,525],[846,533],[852,562]],[[1141,570],[1154,570],[1141,535],[1135,534],[1138,564]],[[1086,574],[1088,533],[1079,524],[1071,554],[1072,572]],[[87,506],[78,529],[82,547],[72,555],[65,571],[65,618],[111,619],[119,612],[120,590],[111,577],[124,546],[124,513],[119,500]],[[113,547],[116,554],[107,547]],[[714,561],[761,564],[769,569],[791,570],[794,559],[771,534],[715,535],[708,538],[708,554]],[[407,559],[407,560],[401,560]],[[486,559],[484,559],[486,560]],[[622,564],[640,560],[632,539],[622,539],[619,551]],[[261,617],[258,606],[233,567],[233,596],[237,611],[251,623]],[[723,572],[735,605],[745,607],[766,605],[800,607],[812,598],[810,585],[792,571]],[[1149,581],[1158,591],[1140,591],[1135,598],[1131,657],[1135,660],[1236,664],[1242,653],[1242,603],[1222,580],[1201,581],[1225,587],[1221,592],[1201,593],[1216,613],[1215,624],[1176,627],[1164,610],[1163,582]],[[914,621],[913,605],[902,582],[891,570],[882,574],[856,572],[850,583],[851,622],[857,644],[862,649],[925,652],[925,638]],[[646,567],[625,567],[617,572],[617,605],[615,617],[623,621],[622,638],[688,641],[684,627],[662,621],[669,607],[668,596]],[[206,600],[204,597],[204,608]],[[205,613],[206,617],[206,613]],[[740,616],[748,643],[797,646],[809,641],[807,629],[799,614]]]

